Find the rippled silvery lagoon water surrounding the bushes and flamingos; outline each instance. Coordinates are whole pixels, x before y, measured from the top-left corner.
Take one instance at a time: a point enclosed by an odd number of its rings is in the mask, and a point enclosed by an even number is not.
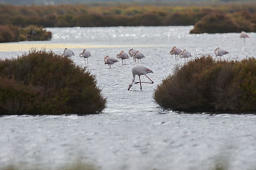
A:
[[[241,60],[256,54],[256,34],[243,42],[238,33],[189,35],[186,27],[72,27],[48,28],[49,42],[0,44],[0,58],[15,58],[31,47],[61,54],[72,49],[76,65],[95,75],[107,107],[90,116],[2,116],[0,118],[0,169],[22,167],[58,169],[77,160],[99,169],[212,169],[222,160],[229,169],[256,168],[256,115],[186,114],[164,111],[154,102],[154,89],[184,60],[170,56],[176,45],[193,58],[213,55],[216,47],[230,52],[224,59]],[[8,48],[7,48],[8,47]],[[89,64],[79,58],[83,49]],[[140,50],[142,65],[154,73],[154,84],[134,84],[132,59],[111,69],[104,56],[121,50]],[[191,58],[191,59],[193,59]],[[216,58],[217,59],[217,58]],[[136,64],[138,65],[138,64]],[[142,79],[147,81],[147,79]],[[136,77],[136,80],[138,77]]]

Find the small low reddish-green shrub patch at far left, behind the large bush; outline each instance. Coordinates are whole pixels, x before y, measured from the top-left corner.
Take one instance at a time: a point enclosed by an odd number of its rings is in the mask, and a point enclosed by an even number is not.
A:
[[[51,38],[51,32],[38,26],[0,26],[0,42],[43,41]]]

